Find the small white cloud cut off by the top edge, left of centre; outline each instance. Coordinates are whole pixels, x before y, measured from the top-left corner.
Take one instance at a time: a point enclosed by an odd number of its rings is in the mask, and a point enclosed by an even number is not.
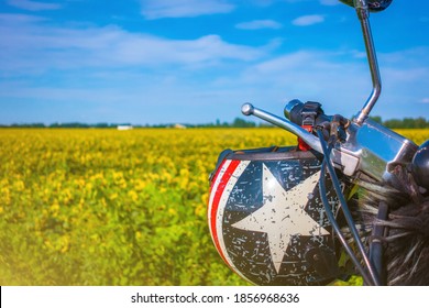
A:
[[[141,3],[142,14],[150,20],[228,13],[234,9],[224,0],[142,0]]]

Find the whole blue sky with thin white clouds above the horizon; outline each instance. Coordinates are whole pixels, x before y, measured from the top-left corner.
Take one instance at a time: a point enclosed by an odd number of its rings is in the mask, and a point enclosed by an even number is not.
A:
[[[372,116],[429,118],[429,1],[371,14]],[[0,123],[232,121],[317,100],[352,117],[372,86],[360,24],[336,0],[3,0]]]

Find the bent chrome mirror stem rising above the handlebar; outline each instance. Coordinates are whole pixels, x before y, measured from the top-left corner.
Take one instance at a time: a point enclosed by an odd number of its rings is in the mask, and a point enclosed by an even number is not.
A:
[[[363,38],[365,41],[366,56],[370,64],[371,78],[373,82],[373,90],[370,98],[366,100],[362,110],[358,113],[354,121],[361,125],[370,116],[371,110],[378,100],[382,92],[382,78],[380,76],[377,57],[370,25],[370,11],[366,0],[354,0],[358,16],[361,21]]]

